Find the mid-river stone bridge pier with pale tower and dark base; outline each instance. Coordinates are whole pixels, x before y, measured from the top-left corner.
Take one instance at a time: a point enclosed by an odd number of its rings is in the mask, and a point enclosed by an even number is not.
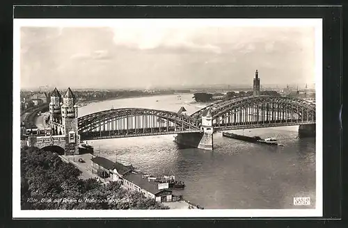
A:
[[[178,133],[175,142],[186,147],[194,147],[198,149],[213,149],[213,133],[212,113],[208,110],[202,115],[202,125],[200,132]]]

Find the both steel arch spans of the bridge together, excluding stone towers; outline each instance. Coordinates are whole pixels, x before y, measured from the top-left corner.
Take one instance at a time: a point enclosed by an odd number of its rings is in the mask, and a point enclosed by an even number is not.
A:
[[[78,118],[81,140],[202,132],[212,114],[215,130],[315,124],[315,105],[290,97],[251,96],[216,102],[192,115],[148,108],[118,108]]]

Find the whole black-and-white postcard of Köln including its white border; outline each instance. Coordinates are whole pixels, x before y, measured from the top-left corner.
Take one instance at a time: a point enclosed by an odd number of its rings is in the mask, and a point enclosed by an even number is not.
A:
[[[322,19],[14,19],[13,217],[322,216]]]

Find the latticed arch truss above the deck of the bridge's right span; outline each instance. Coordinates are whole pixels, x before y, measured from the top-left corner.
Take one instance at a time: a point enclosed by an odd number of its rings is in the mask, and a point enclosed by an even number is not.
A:
[[[236,116],[239,115],[237,122],[258,122],[271,116],[276,120],[303,120],[315,122],[315,105],[303,99],[292,97],[271,97],[271,96],[251,96],[237,97],[224,101],[219,101],[193,113],[191,117],[196,122],[202,121],[202,114],[210,110],[213,122],[215,124],[226,123],[226,119],[230,122],[236,122]],[[244,117],[244,115],[256,115],[256,117]],[[238,119],[238,117],[237,117]],[[249,120],[250,119],[250,120]]]

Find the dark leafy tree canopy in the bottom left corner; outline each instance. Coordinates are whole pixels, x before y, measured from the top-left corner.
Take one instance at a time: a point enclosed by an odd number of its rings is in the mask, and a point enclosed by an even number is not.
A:
[[[21,151],[21,206],[26,209],[168,209],[118,182],[79,179],[81,171],[53,152]]]

